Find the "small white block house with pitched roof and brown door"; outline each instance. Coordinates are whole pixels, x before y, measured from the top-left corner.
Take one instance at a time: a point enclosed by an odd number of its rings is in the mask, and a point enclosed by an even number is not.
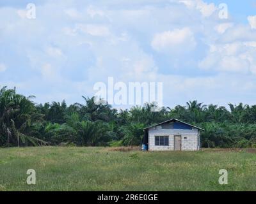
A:
[[[170,119],[143,129],[143,146],[148,150],[199,150],[198,128],[178,119]]]

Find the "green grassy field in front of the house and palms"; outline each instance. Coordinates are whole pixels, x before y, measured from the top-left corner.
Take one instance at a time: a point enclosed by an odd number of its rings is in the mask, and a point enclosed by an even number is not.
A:
[[[36,171],[36,185],[26,171]],[[219,170],[228,170],[220,185]],[[0,149],[0,191],[256,191],[246,151],[122,152],[103,147]]]

